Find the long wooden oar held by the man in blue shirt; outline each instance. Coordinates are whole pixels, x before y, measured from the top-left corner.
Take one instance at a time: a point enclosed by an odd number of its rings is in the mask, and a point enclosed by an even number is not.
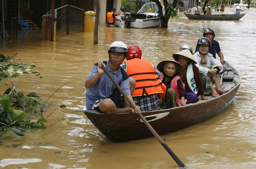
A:
[[[108,72],[104,66],[101,66],[101,68],[104,70],[104,72],[108,75],[109,79],[114,83],[115,86],[117,86],[117,89],[122,93],[122,96],[128,101],[128,103],[132,106],[134,109],[136,105],[134,104],[133,101],[130,100],[130,98],[124,93],[122,88],[118,85],[118,83],[115,81],[115,79],[112,77],[112,75]],[[165,148],[165,150],[172,156],[173,160],[180,166],[180,167],[185,167],[184,163],[174,154],[174,152],[168,147],[168,145],[163,141],[163,139],[158,135],[156,130],[153,129],[153,127],[148,123],[148,121],[144,118],[144,116],[140,113],[138,114],[139,118],[142,119],[144,124],[148,127],[150,132],[154,134],[154,136],[158,139],[158,141],[161,143],[161,145]]]

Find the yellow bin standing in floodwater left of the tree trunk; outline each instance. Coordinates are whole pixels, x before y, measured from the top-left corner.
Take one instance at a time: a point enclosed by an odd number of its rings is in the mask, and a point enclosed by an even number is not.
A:
[[[95,15],[94,11],[87,11],[84,13],[84,31],[85,32],[93,32],[95,25]]]

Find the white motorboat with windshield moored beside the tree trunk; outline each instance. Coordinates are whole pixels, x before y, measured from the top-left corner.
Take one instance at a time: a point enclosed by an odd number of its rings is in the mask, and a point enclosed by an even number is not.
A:
[[[163,7],[163,15],[165,8]],[[122,18],[117,16],[117,18]],[[159,9],[156,3],[145,4],[137,13],[126,12],[122,22],[115,21],[116,26],[131,28],[153,28],[160,27],[161,21],[159,17]]]

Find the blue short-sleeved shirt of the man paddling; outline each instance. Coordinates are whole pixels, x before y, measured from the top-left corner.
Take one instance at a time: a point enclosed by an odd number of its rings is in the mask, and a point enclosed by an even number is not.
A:
[[[115,81],[121,86],[122,90],[124,90],[124,93],[126,95],[130,95],[130,82],[129,82],[129,76],[128,74],[119,67],[118,70],[115,72],[112,72],[109,61],[104,61],[104,63],[107,66],[108,72],[113,76]],[[98,63],[95,63],[93,65],[93,68],[91,72],[89,73],[86,80],[92,78],[97,72],[97,66]],[[95,85],[91,86],[86,90],[85,93],[85,99],[86,99],[86,109],[90,110],[93,106],[93,103],[97,100],[105,99],[109,97],[113,90],[116,88],[114,83],[109,79],[108,75],[106,73],[103,73],[98,81],[95,83]]]

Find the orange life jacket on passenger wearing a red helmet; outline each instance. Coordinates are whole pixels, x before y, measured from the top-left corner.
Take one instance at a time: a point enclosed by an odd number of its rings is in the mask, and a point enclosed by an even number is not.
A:
[[[139,58],[130,59],[126,61],[126,73],[136,80],[133,96],[159,94],[165,98],[166,86],[150,62]]]

